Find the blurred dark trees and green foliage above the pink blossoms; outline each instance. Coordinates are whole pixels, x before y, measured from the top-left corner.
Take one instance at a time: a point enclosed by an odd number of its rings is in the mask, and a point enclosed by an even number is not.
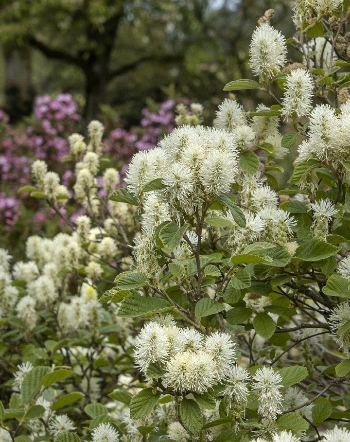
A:
[[[115,114],[128,127],[147,100],[186,97],[212,116],[224,85],[251,77],[250,37],[268,8],[292,35],[289,0],[2,0],[0,106],[16,122],[36,95],[69,92],[85,120]],[[251,108],[259,96],[238,99]]]

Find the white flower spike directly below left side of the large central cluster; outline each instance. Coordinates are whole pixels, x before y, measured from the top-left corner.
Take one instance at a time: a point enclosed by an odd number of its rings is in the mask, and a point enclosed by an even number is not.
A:
[[[159,198],[157,192],[147,192],[143,202],[141,225],[153,229],[167,220],[170,220],[169,205]]]

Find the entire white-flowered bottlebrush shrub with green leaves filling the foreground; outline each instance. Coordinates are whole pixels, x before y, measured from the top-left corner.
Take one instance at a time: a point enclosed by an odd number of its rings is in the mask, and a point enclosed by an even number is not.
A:
[[[24,191],[68,232],[30,236],[17,263],[0,250],[1,440],[350,440],[349,16],[297,1],[304,58],[286,66],[267,11],[258,81],[226,90],[276,104],[231,97],[213,126],[178,107],[125,187],[97,121],[69,138],[72,190],[35,160]]]

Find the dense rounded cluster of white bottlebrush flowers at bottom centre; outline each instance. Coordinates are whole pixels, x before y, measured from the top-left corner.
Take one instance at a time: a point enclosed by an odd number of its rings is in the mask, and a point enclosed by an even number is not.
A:
[[[226,333],[204,336],[175,325],[172,318],[146,324],[135,341],[135,364],[146,374],[150,364],[164,370],[164,382],[181,393],[203,393],[227,376],[235,363],[235,344]]]

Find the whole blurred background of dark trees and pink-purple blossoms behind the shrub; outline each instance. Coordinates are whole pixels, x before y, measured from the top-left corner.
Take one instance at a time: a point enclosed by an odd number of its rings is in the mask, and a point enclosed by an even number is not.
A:
[[[248,52],[258,18],[273,8],[272,24],[287,38],[295,33],[291,3],[1,0],[1,247],[20,258],[28,236],[66,229],[40,198],[18,192],[31,183],[35,159],[71,189],[68,136],[85,133],[92,119],[105,125],[105,167],[122,175],[135,152],[173,129],[177,103],[202,103],[211,124],[225,84],[252,78]],[[246,110],[274,104],[257,90],[238,91],[237,99]],[[282,160],[275,188],[290,177],[294,157]],[[62,211],[74,222],[74,204]]]

